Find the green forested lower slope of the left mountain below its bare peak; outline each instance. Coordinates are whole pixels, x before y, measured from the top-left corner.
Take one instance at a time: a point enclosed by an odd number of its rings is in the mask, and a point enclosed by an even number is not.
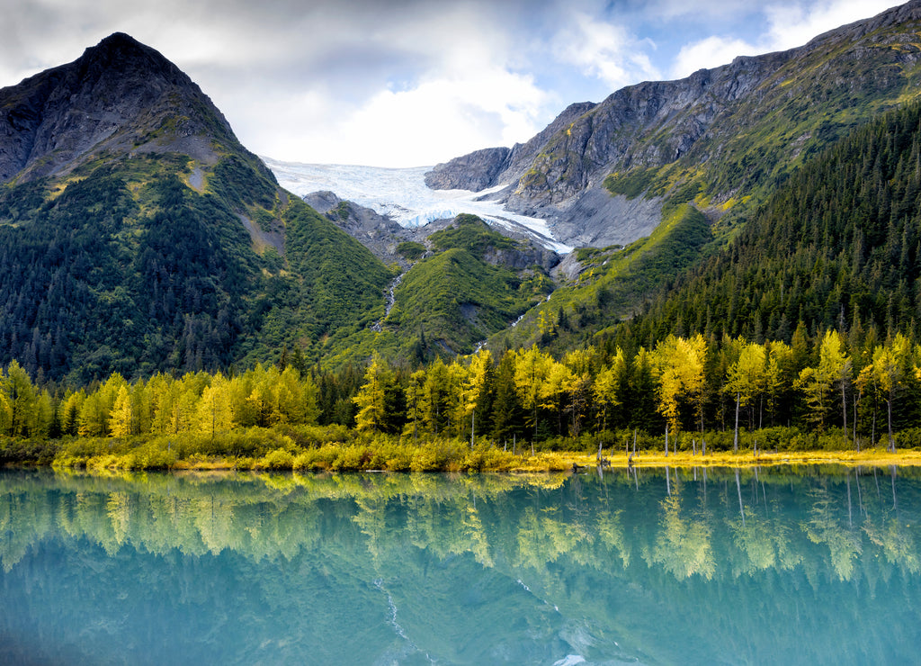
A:
[[[79,381],[227,368],[380,316],[389,270],[249,158],[104,156],[0,187],[3,362]]]

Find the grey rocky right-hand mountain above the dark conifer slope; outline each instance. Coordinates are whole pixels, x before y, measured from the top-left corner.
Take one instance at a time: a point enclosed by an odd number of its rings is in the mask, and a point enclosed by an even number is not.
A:
[[[919,29],[913,0],[797,49],[623,88],[570,106],[524,145],[437,165],[426,183],[502,186],[489,196],[577,247],[647,236],[664,204],[729,213],[729,226],[810,156],[917,97]]]

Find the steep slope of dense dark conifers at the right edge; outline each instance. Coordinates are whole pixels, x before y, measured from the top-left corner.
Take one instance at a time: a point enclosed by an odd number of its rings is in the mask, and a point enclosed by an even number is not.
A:
[[[736,240],[625,327],[789,341],[802,321],[916,336],[921,315],[921,106],[891,111],[801,169]]]

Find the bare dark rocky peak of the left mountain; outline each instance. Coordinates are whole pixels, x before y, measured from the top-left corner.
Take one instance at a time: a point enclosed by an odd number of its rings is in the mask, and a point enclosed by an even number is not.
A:
[[[0,182],[58,174],[103,150],[208,161],[214,142],[241,147],[189,76],[122,33],[0,90]]]

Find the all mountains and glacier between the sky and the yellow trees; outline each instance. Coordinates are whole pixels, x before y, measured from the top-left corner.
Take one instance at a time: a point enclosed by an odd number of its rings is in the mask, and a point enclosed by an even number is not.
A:
[[[76,385],[669,333],[788,343],[800,323],[912,333],[919,92],[915,0],[413,169],[449,202],[415,210],[372,204],[373,181],[273,172],[116,33],[0,90],[0,363]]]

